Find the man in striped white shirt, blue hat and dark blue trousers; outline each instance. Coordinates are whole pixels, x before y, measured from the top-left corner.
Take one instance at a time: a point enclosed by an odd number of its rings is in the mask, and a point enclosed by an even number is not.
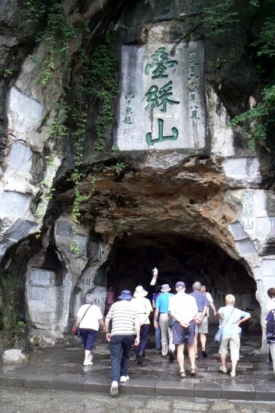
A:
[[[129,380],[131,346],[134,341],[135,346],[140,343],[140,318],[135,306],[130,303],[132,298],[131,291],[123,290],[118,297],[120,301],[112,304],[105,319],[106,338],[110,341],[111,396],[118,395],[119,381]]]

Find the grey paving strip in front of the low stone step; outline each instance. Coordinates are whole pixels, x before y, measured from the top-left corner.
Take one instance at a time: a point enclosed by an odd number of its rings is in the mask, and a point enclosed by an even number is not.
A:
[[[274,413],[272,402],[0,388],[0,413]]]

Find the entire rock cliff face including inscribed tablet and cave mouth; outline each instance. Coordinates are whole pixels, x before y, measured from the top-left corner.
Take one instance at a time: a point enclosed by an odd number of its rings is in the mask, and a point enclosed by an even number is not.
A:
[[[28,10],[15,0],[0,6],[1,283],[18,279],[16,310],[34,327],[34,343],[63,337],[88,292],[102,310],[107,285],[119,292],[141,283],[153,293],[154,266],[159,283],[183,279],[190,290],[203,280],[217,307],[233,293],[257,329],[275,284],[272,153],[249,149],[247,134],[228,127],[258,98],[250,21],[217,41],[203,25],[205,1],[110,3],[66,3],[69,22],[85,23],[89,36],[67,43],[69,76],[54,56],[54,76],[44,83],[37,62],[49,52],[45,36],[34,48],[35,29],[23,24]],[[89,97],[79,161],[80,50],[85,44],[91,55],[108,31],[117,59],[115,124],[97,151],[98,107]],[[67,116],[56,106],[64,100]],[[77,208],[76,191],[85,195]]]

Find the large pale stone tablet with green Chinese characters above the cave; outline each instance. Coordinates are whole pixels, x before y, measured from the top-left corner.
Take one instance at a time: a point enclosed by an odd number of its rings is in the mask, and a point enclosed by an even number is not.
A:
[[[206,145],[203,41],[122,47],[120,151]]]

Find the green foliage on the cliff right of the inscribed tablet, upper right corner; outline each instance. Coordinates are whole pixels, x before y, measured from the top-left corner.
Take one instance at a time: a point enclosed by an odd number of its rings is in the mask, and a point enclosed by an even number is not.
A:
[[[217,2],[216,2],[217,3]],[[230,32],[232,24],[241,21],[239,13],[233,11],[237,0],[219,0],[214,6],[204,8],[204,23],[214,36]],[[248,12],[254,12],[254,20],[259,22],[256,39],[250,43],[256,72],[263,81],[261,100],[248,111],[235,116],[230,126],[241,125],[251,138],[248,145],[263,141],[274,126],[274,57],[275,57],[275,0],[250,0]],[[236,8],[236,7],[235,7]]]

